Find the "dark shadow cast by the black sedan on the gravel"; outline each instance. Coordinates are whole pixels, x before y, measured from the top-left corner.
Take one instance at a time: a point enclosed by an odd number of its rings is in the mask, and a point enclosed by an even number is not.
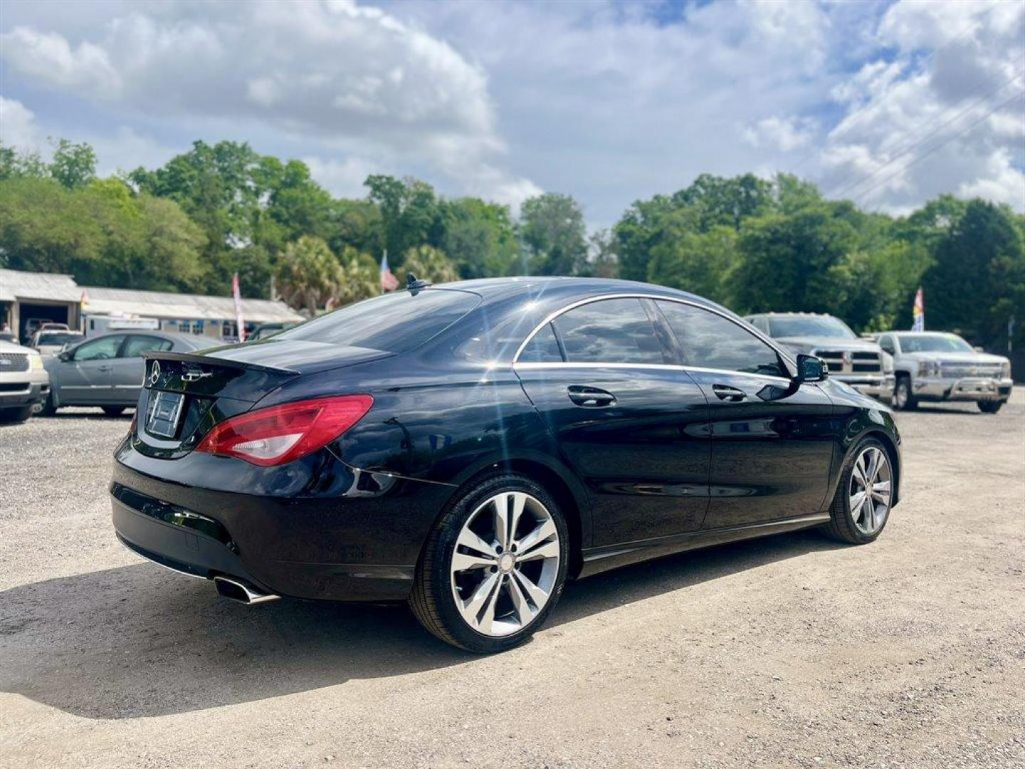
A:
[[[832,547],[805,532],[626,567],[571,583],[549,626]],[[0,593],[0,691],[85,718],[183,713],[480,659],[435,640],[404,606],[250,608],[152,564]]]

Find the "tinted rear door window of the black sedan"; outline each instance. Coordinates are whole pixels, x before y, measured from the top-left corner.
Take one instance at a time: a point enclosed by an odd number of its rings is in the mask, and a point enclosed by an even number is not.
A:
[[[552,325],[570,363],[669,363],[640,299],[602,299],[563,313]]]

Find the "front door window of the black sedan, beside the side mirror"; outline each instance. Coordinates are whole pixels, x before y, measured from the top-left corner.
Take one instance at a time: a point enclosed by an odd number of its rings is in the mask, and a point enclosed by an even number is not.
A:
[[[658,307],[680,341],[687,365],[786,376],[776,351],[739,323],[692,305],[660,300]]]

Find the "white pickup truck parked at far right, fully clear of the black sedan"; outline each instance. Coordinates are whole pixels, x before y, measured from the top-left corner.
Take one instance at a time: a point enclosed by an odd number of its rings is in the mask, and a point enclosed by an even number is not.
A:
[[[957,334],[887,331],[878,341],[894,357],[894,408],[914,408],[919,401],[975,401],[980,411],[995,414],[1011,398],[1011,361],[977,351]]]

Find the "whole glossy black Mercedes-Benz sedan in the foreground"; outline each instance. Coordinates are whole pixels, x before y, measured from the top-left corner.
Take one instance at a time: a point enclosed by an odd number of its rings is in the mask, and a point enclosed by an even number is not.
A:
[[[408,601],[479,652],[569,578],[896,503],[887,407],[724,308],[627,281],[416,282],[266,339],[147,355],[116,452],[132,551],[243,603]]]

